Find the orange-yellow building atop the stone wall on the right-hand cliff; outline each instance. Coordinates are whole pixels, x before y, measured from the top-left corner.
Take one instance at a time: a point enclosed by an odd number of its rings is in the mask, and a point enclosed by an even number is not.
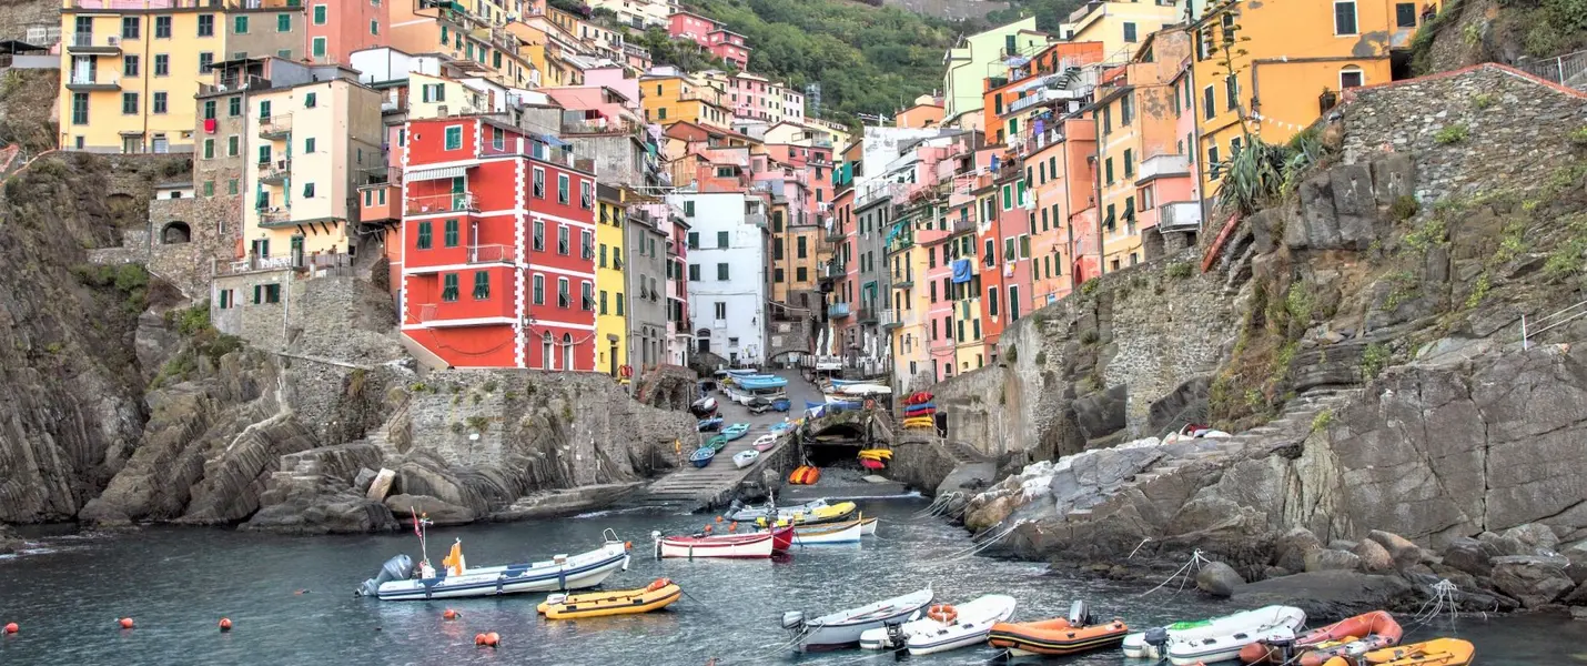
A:
[[[1392,81],[1390,51],[1409,44],[1416,22],[1416,5],[1389,0],[1211,6],[1193,25],[1198,149],[1211,165],[1201,192],[1216,195],[1216,165],[1247,132],[1289,141],[1339,90]]]

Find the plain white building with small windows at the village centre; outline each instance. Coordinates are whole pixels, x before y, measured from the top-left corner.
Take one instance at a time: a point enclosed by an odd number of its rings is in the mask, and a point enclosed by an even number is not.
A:
[[[767,205],[744,192],[678,192],[689,224],[689,320],[695,350],[767,360]]]

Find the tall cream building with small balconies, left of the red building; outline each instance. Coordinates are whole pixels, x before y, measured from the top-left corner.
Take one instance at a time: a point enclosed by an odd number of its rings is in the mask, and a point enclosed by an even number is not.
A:
[[[243,239],[257,258],[346,254],[359,219],[357,187],[384,171],[379,92],[357,71],[317,67],[317,81],[248,97]],[[279,70],[278,70],[279,71]],[[330,78],[335,73],[336,78]],[[198,159],[219,146],[206,144]],[[230,147],[227,147],[227,152]]]

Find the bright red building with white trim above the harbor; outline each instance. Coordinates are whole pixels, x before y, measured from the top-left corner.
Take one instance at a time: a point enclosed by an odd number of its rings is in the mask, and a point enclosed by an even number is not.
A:
[[[595,369],[595,176],[478,116],[409,121],[402,331],[454,368]]]

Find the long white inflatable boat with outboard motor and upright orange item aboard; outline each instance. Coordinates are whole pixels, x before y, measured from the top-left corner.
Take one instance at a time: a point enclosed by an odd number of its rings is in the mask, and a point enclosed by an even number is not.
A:
[[[617,569],[628,568],[628,547],[616,541],[616,533],[611,530],[606,530],[606,542],[595,550],[555,555],[546,561],[468,568],[462,558],[460,541],[452,545],[452,555],[443,560],[446,566],[440,571],[422,566],[424,571],[417,579],[411,577],[413,560],[398,555],[386,563],[378,577],[365,580],[359,595],[381,601],[424,601],[582,590],[600,585]]]

